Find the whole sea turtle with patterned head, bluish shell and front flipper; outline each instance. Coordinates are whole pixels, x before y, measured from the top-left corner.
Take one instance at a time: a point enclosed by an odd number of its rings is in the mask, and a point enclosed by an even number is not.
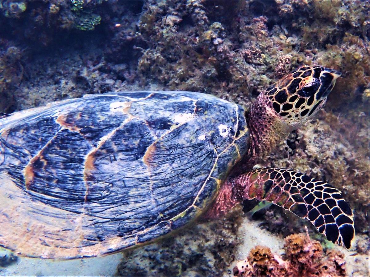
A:
[[[340,191],[290,169],[254,168],[325,103],[340,72],[302,66],[248,110],[184,91],[68,99],[0,119],[0,245],[71,259],[148,243],[243,199],[309,219],[351,247]]]

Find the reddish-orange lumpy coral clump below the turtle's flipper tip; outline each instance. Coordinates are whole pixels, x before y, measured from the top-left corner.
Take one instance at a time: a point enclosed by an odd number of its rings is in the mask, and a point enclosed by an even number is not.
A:
[[[323,253],[316,240],[308,235],[290,235],[285,239],[285,254],[272,254],[268,247],[256,246],[246,260],[234,267],[236,276],[346,276],[344,255]]]

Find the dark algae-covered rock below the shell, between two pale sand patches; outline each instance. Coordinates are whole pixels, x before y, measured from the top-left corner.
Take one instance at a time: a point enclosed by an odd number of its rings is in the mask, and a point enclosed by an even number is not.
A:
[[[175,236],[128,250],[117,276],[221,276],[235,260],[240,220],[231,216],[191,226]]]

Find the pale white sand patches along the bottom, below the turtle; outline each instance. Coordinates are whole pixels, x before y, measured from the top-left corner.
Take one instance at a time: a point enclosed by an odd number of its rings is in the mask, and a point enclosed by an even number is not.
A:
[[[269,246],[273,253],[282,254],[283,239],[275,236],[270,232],[258,227],[259,221],[250,221],[248,218],[244,218],[236,232],[236,239],[240,241],[238,247],[234,249],[235,261],[230,266],[225,268],[223,273],[219,273],[222,276],[233,276],[232,269],[239,260],[245,259],[248,256],[250,249],[257,245]],[[207,228],[207,227],[205,227]],[[186,236],[186,235],[185,235]],[[196,236],[192,236],[194,240],[199,239]],[[202,238],[200,238],[201,240]],[[212,239],[212,238],[211,238]],[[194,242],[197,243],[196,241]],[[146,247],[144,247],[146,248]],[[337,250],[341,251],[345,255],[347,263],[348,276],[368,276],[369,257],[366,254],[358,255],[355,251],[347,251],[341,247],[336,246]],[[0,252],[3,254],[3,252]],[[145,257],[145,256],[144,256]],[[112,276],[117,274],[117,267],[125,260],[122,253],[111,254],[105,257],[90,258],[90,259],[77,259],[67,261],[53,261],[53,260],[42,260],[32,258],[20,258],[16,263],[12,263],[5,268],[0,267],[1,276],[9,275],[33,275],[33,276]],[[142,263],[142,266],[148,266],[148,261],[143,261],[143,258],[138,259],[134,256],[137,263]],[[145,258],[144,258],[145,259]],[[215,273],[213,273],[215,274]],[[213,276],[211,274],[211,276]],[[148,276],[158,275],[166,276],[167,274],[160,274],[158,271],[150,273]],[[169,274],[172,275],[172,274]],[[202,271],[184,271],[181,276],[203,276],[208,274],[202,274]],[[218,275],[218,274],[217,274]],[[142,276],[133,272],[122,276]]]

